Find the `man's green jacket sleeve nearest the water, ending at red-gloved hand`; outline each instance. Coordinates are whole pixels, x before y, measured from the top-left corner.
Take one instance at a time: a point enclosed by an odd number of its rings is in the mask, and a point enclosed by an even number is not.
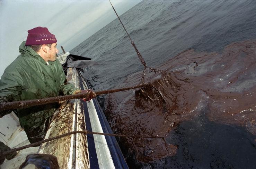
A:
[[[59,62],[59,60],[56,60]],[[66,79],[66,76],[65,76],[65,73],[64,73],[64,70],[61,66],[61,63],[59,62],[59,73],[60,73],[60,82],[61,82],[61,85],[60,85],[60,92],[63,94],[63,95],[72,95],[74,93],[78,93],[80,91],[80,89],[76,88],[73,84],[71,83],[68,83],[67,79]]]

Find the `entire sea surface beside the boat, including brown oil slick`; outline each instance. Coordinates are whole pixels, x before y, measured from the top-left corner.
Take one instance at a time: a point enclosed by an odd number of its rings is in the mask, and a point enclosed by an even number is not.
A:
[[[130,168],[255,168],[255,11],[254,0],[144,0],[120,17],[147,65],[170,72],[99,100],[115,133],[166,138],[120,138]],[[83,74],[95,90],[140,82],[117,19],[71,53],[98,63]]]

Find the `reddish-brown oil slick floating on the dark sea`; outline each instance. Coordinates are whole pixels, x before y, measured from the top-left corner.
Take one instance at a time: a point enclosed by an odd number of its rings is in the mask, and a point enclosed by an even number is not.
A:
[[[152,86],[109,95],[105,112],[114,133],[167,138],[167,144],[161,139],[121,138],[124,155],[141,162],[175,157],[182,143],[172,141],[170,133],[202,116],[207,124],[244,128],[255,149],[255,56],[255,40],[232,43],[221,52],[189,49],[160,67],[169,72],[166,76],[147,72],[145,82]],[[131,74],[123,84],[136,85],[140,78],[141,72]]]

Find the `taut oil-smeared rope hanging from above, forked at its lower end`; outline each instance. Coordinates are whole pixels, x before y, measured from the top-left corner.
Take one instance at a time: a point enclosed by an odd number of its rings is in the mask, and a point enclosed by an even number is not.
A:
[[[108,0],[108,1],[110,2],[110,0]],[[137,56],[138,56],[138,58],[139,58],[141,64],[145,67],[144,70],[143,70],[143,73],[142,73],[141,82],[144,83],[144,79],[145,79],[145,70],[146,70],[147,68],[149,68],[151,71],[153,71],[153,72],[155,72],[155,73],[156,73],[156,72],[161,73],[162,76],[163,76],[164,74],[166,74],[165,71],[162,71],[162,70],[160,70],[160,69],[154,69],[154,68],[151,68],[151,67],[148,67],[148,66],[147,66],[145,60],[143,59],[143,57],[142,57],[141,53],[139,52],[138,48],[136,47],[134,41],[132,40],[132,38],[130,37],[129,33],[128,33],[127,30],[125,29],[124,24],[123,24],[123,22],[121,21],[120,17],[118,16],[118,14],[117,14],[115,8],[113,7],[113,5],[112,5],[111,2],[110,2],[110,4],[111,4],[113,10],[115,11],[117,18],[119,19],[120,23],[122,24],[122,26],[123,26],[125,32],[127,33],[128,37],[130,38],[131,44],[132,44],[132,46],[134,47],[134,49],[135,49],[135,51],[136,51],[136,53],[137,53]]]

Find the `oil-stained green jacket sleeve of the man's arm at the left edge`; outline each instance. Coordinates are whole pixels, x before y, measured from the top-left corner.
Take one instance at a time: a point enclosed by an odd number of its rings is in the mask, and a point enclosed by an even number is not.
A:
[[[11,71],[5,71],[0,80],[0,103],[19,101],[23,86],[24,81],[17,69],[14,68]],[[11,113],[11,111],[0,111],[0,118]]]

